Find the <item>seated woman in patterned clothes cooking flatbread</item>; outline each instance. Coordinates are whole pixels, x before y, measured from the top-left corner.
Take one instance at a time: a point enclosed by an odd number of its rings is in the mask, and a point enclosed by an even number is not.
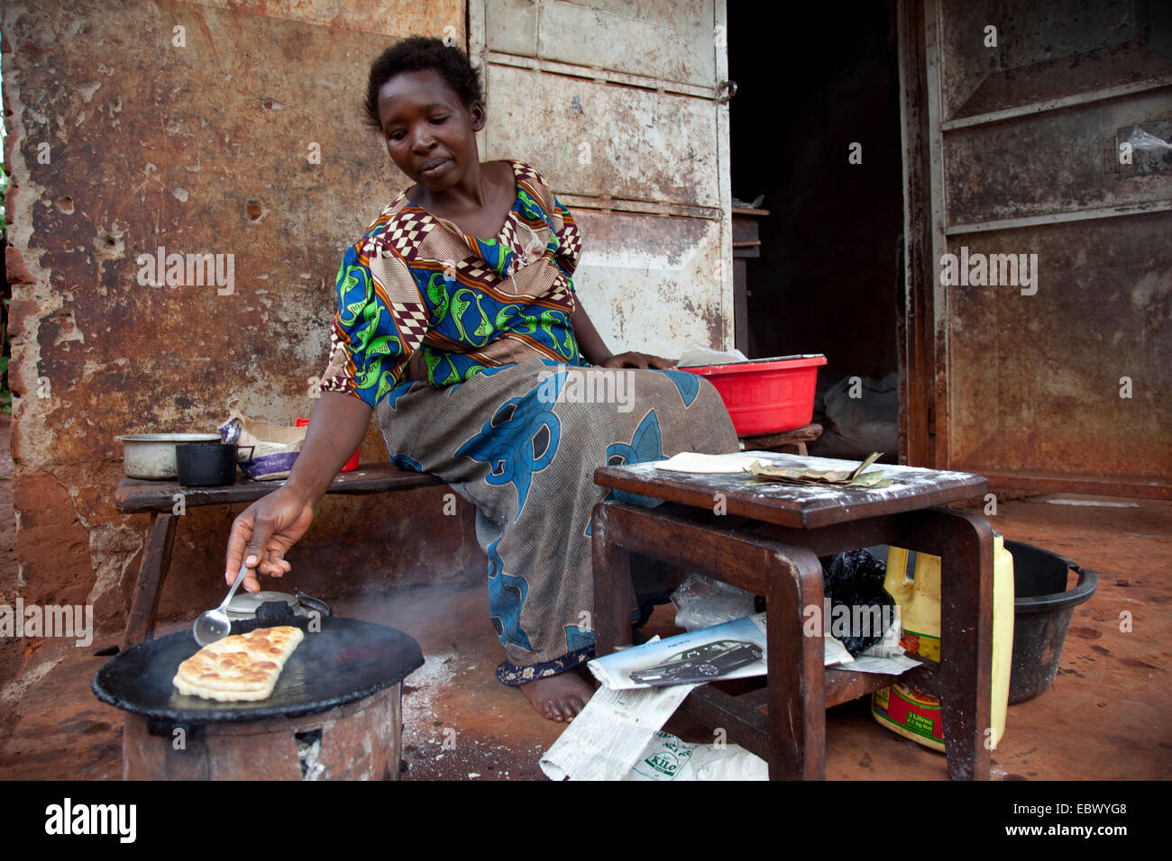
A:
[[[443,477],[476,506],[507,657],[497,677],[571,720],[593,692],[566,670],[593,645],[595,467],[735,451],[736,433],[707,381],[607,350],[574,298],[570,211],[529,165],[479,160],[485,111],[462,53],[397,43],[372,67],[366,108],[416,184],[346,252],[305,445],[288,481],[233,522],[225,578],[245,555],[251,592],[257,572],[289,570],[285,554],[375,410],[393,463]],[[581,403],[584,392],[613,397]]]

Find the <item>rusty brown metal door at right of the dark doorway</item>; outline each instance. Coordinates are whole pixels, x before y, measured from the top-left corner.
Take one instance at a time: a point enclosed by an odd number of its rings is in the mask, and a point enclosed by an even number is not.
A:
[[[901,6],[905,453],[1172,494],[1172,8]]]

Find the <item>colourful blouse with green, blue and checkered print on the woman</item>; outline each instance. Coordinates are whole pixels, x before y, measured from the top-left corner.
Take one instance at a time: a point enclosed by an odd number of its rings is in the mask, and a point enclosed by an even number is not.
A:
[[[517,200],[495,238],[400,194],[347,248],[323,391],[376,406],[416,351],[437,389],[532,356],[590,364],[570,323],[581,233],[536,170],[509,164]]]

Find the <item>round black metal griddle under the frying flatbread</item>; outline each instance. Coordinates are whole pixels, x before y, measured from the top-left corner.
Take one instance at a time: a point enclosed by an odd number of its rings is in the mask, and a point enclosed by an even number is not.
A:
[[[287,608],[286,608],[287,609]],[[247,620],[232,623],[233,634],[292,624],[306,631],[267,699],[217,703],[179,693],[172,679],[179,663],[199,651],[190,630],[134,645],[94,674],[97,698],[118,709],[177,724],[261,720],[327,711],[390,688],[423,664],[420,644],[395,628],[356,619],[327,616],[321,630],[311,620]]]

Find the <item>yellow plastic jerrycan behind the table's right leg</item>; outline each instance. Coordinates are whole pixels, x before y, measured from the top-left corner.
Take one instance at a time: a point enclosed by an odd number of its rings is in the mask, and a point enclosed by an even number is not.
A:
[[[908,652],[940,660],[940,556],[918,553],[915,576],[907,576],[907,551],[887,549],[884,588],[899,604],[904,634],[900,645]],[[1009,669],[1014,654],[1014,558],[1004,539],[993,537],[993,702],[989,745],[996,747],[1006,732],[1009,705]],[[940,701],[906,684],[895,683],[871,695],[871,716],[892,732],[945,750]]]

